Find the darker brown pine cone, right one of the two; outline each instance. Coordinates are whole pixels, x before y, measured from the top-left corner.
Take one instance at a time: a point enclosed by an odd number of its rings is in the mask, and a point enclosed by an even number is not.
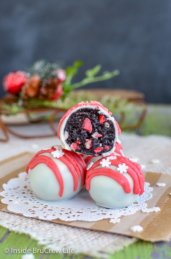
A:
[[[50,100],[55,95],[56,88],[57,88],[56,78],[44,79],[38,92],[38,99]]]

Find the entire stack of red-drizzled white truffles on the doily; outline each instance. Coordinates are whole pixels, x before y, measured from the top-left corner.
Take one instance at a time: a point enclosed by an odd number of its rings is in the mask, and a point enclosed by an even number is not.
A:
[[[96,204],[123,208],[144,192],[141,166],[124,157],[118,123],[99,102],[81,102],[58,126],[61,146],[44,149],[30,161],[33,192],[44,200],[67,200],[86,183]],[[87,172],[86,172],[87,167]]]

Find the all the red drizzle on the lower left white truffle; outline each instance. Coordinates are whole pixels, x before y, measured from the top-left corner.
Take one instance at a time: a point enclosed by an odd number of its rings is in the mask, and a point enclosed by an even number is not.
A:
[[[64,191],[64,182],[62,179],[62,175],[60,173],[60,170],[56,163],[49,158],[48,156],[41,155],[43,153],[51,153],[52,151],[56,150],[54,147],[48,150],[41,150],[39,151],[33,158],[32,160],[28,163],[28,166],[26,168],[26,173],[28,174],[28,169],[33,169],[35,166],[38,164],[46,164],[55,174],[59,185],[60,185],[60,190],[59,190],[59,196],[62,197],[63,191]],[[61,162],[63,162],[66,166],[68,166],[74,180],[74,192],[76,191],[78,187],[78,179],[80,179],[81,176],[81,186],[85,184],[83,182],[84,180],[84,174],[86,175],[86,163],[82,159],[81,156],[79,156],[77,153],[68,151],[63,149],[62,152],[65,154],[60,157],[56,158],[59,159]]]

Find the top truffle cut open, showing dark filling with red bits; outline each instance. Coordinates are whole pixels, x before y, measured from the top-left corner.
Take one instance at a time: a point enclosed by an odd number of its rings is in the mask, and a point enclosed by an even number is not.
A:
[[[64,114],[58,126],[62,147],[88,156],[113,153],[121,130],[111,115],[97,101],[73,106]]]

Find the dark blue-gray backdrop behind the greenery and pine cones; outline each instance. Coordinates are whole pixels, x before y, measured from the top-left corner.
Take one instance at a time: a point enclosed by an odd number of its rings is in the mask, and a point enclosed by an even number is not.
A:
[[[137,89],[171,103],[170,0],[1,0],[0,81],[35,60],[81,59],[120,75],[91,87]],[[4,94],[0,87],[0,96]]]

